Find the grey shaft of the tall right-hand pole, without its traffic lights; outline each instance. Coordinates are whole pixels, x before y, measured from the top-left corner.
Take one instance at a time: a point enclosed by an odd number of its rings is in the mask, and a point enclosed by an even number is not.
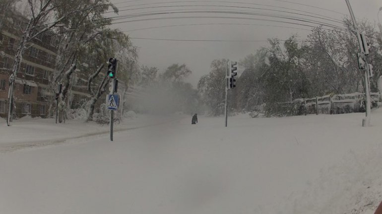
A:
[[[360,35],[358,27],[357,27],[356,18],[354,16],[353,10],[352,10],[352,8],[350,6],[349,0],[345,0],[345,1],[346,1],[346,4],[347,4],[347,7],[349,8],[350,16],[351,16],[351,18],[353,20],[354,28],[356,30],[358,44],[359,44],[360,50],[362,52],[363,47],[362,47],[361,35]],[[368,66],[367,66],[367,63],[366,63],[366,68],[365,68],[366,118],[362,120],[362,126],[363,127],[367,127],[370,124],[370,112],[371,112],[371,108],[370,108],[370,91],[369,91],[370,88],[369,88],[369,74],[368,73],[369,73],[369,69],[368,69]]]

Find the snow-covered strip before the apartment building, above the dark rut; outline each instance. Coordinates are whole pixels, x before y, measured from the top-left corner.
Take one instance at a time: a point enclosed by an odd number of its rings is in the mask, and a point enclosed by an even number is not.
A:
[[[125,118],[115,123],[114,131],[153,126],[182,118],[180,115],[153,116],[139,115]],[[0,118],[0,152],[20,148],[43,146],[64,142],[68,139],[81,138],[110,132],[109,125],[99,125],[83,120],[67,120],[56,124],[55,119],[21,118],[14,120],[10,127]]]

